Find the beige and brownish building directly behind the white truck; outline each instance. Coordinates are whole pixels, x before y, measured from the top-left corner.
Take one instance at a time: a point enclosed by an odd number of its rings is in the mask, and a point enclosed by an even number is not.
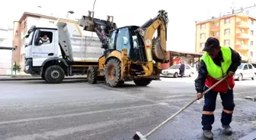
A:
[[[30,26],[53,27],[56,20],[57,17],[24,12],[20,20],[14,21],[13,42],[14,46],[18,48],[14,53],[14,61],[21,64],[22,69],[24,67],[25,44],[27,42],[25,35],[27,30],[30,29]]]

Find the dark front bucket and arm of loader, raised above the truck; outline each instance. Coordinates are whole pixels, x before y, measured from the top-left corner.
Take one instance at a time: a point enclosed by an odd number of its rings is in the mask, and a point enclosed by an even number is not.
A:
[[[107,20],[100,20],[98,18],[91,17],[91,11],[88,12],[88,16],[82,16],[78,20],[79,26],[83,26],[83,30],[95,32],[101,43],[107,45],[107,39],[110,36],[110,31],[117,28],[116,23],[113,23],[113,17],[107,16]],[[110,18],[111,21],[110,21]]]

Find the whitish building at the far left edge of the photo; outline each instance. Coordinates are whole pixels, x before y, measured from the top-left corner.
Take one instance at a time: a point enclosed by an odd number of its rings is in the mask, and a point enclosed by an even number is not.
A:
[[[12,27],[0,28],[0,46],[12,47]],[[11,74],[11,50],[0,49],[0,75]]]

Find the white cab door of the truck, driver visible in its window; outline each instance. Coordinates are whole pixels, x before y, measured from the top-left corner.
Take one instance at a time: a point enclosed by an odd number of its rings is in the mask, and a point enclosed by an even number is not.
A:
[[[40,67],[47,58],[58,57],[56,52],[58,42],[56,42],[55,30],[37,30],[34,36],[34,45],[32,47],[33,66]]]

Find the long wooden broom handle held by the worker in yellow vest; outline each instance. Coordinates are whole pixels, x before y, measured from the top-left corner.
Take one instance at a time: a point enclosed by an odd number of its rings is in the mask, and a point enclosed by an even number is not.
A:
[[[205,95],[207,92],[212,90],[215,86],[219,85],[220,82],[222,82],[224,79],[226,79],[228,75],[224,76],[222,79],[220,79],[218,82],[216,82],[213,86],[211,86],[209,89],[207,89],[205,92],[203,92],[203,95]],[[194,99],[194,101],[191,101],[186,106],[182,107],[181,110],[179,110],[176,114],[169,117],[167,120],[165,120],[163,123],[161,123],[159,126],[155,127],[155,129],[152,129],[151,132],[149,132],[147,135],[144,136],[144,138],[147,138],[149,135],[151,135],[153,132],[155,132],[157,129],[159,129],[161,126],[165,125],[168,121],[170,121],[172,118],[176,117],[178,114],[180,114],[183,110],[185,110],[187,107],[189,107],[191,104],[193,104],[195,101],[197,101],[197,98]]]

